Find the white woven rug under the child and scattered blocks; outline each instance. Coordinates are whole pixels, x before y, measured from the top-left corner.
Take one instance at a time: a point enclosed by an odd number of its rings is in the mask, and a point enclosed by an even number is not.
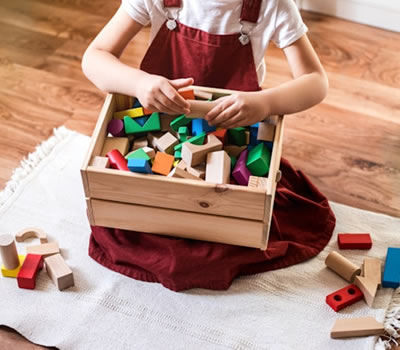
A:
[[[393,297],[393,289],[381,289],[373,309],[362,301],[336,314],[325,296],[347,283],[324,267],[324,258],[336,249],[337,232],[371,232],[374,245],[367,254],[384,258],[388,245],[400,246],[400,220],[335,203],[335,236],[318,257],[239,278],[227,291],[175,293],[98,265],[87,254],[90,231],[79,174],[88,142],[86,136],[56,130],[0,194],[0,231],[43,228],[59,242],[76,281],[59,292],[42,271],[31,291],[1,277],[0,324],[35,343],[73,350],[373,349],[374,337],[333,340],[330,329],[338,317],[382,321],[388,308],[386,324],[393,332],[389,324],[400,318],[400,290]],[[24,252],[23,244],[18,249]],[[366,255],[343,254],[357,264]]]

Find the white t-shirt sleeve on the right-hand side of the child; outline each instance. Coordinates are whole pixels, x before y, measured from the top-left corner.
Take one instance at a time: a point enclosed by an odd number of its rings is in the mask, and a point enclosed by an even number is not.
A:
[[[279,48],[293,44],[308,31],[293,0],[278,0],[275,20],[271,40]]]

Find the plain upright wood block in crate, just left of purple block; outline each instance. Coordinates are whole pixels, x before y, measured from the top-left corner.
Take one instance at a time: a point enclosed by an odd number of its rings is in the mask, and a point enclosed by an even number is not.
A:
[[[217,184],[228,184],[231,175],[231,158],[225,151],[207,154],[206,181]]]

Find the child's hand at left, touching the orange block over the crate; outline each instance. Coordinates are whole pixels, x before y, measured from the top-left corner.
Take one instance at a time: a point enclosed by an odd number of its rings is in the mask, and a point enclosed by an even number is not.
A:
[[[192,78],[168,80],[159,75],[148,74],[140,84],[136,97],[144,108],[167,114],[190,113],[189,103],[177,90],[192,85]]]

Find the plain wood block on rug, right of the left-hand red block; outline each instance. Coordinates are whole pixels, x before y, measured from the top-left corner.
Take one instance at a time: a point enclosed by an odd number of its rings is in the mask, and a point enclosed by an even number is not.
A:
[[[74,286],[72,270],[60,254],[55,254],[44,259],[46,271],[58,290]]]

